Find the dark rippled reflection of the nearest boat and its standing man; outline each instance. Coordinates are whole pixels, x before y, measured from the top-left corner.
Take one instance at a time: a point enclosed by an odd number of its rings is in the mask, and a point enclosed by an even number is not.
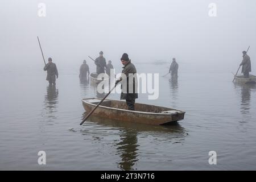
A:
[[[82,114],[82,118],[87,113]],[[117,162],[117,167],[122,170],[133,170],[135,163],[139,160],[139,144],[138,135],[141,138],[152,137],[151,142],[157,142],[162,144],[175,144],[181,143],[184,137],[187,136],[187,132],[178,123],[174,123],[169,126],[155,126],[155,125],[143,125],[141,123],[122,122],[112,119],[105,119],[92,115],[89,121],[84,123],[84,126],[89,126],[90,131],[97,131],[97,137],[106,137],[106,133],[113,136],[113,131],[116,135],[119,135],[119,139],[115,139],[118,142],[114,144],[117,149],[117,154],[121,158]],[[88,134],[88,129],[84,130]],[[99,133],[101,132],[102,135]],[[113,139],[114,142],[114,139]],[[150,143],[150,141],[148,141]]]

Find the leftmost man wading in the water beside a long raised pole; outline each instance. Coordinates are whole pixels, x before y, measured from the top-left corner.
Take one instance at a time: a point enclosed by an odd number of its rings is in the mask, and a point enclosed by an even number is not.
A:
[[[58,78],[59,74],[56,64],[52,63],[51,57],[48,58],[48,63],[44,67],[44,71],[47,71],[46,80],[49,81],[49,86],[51,86],[52,84],[55,85],[56,78]]]

